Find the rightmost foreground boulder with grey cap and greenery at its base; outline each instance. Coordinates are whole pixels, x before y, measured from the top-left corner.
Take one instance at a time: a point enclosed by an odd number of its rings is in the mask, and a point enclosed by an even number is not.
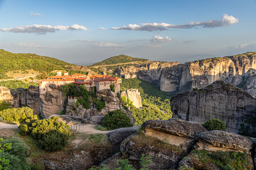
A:
[[[199,142],[194,146],[194,150],[179,162],[179,168],[185,166],[194,169],[217,170],[221,166],[225,166],[221,169],[232,166],[233,168],[254,169],[250,153],[253,142],[248,138],[224,131],[201,132],[196,137]]]

